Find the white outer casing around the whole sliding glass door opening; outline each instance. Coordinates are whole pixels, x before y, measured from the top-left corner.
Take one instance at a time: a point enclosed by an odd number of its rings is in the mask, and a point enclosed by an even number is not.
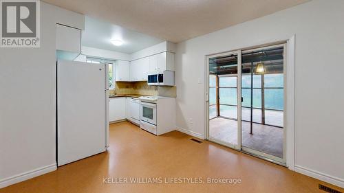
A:
[[[253,49],[257,47],[267,47],[270,45],[278,45],[286,43],[286,52],[285,55],[285,71],[286,76],[285,78],[285,93],[284,93],[284,100],[285,100],[285,115],[284,115],[284,128],[286,130],[286,150],[284,150],[283,154],[285,154],[284,158],[286,159],[286,167],[290,170],[295,170],[295,41],[296,35],[292,35],[289,38],[279,40],[272,40],[267,41],[266,43],[261,43],[260,45],[252,45],[250,47],[242,48],[242,49],[234,49],[229,50],[228,52],[217,52],[215,54],[223,54],[229,52],[235,52],[236,50],[246,50],[246,49]],[[208,126],[209,126],[209,109],[208,109],[208,74],[209,74],[209,67],[208,67],[208,56],[213,56],[215,54],[208,54],[204,57],[204,108],[205,108],[205,126],[204,126],[204,139],[208,139]],[[241,56],[241,54],[240,54]],[[241,81],[240,81],[241,82]],[[240,85],[241,87],[241,85]],[[240,89],[241,90],[241,89]],[[239,133],[239,132],[238,132]],[[241,139],[241,137],[240,137]],[[249,153],[248,153],[249,154]],[[267,159],[268,160],[268,159]],[[271,161],[271,160],[268,160]]]

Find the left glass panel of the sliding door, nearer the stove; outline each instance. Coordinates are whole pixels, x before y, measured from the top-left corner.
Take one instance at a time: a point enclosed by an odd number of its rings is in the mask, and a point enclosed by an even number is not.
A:
[[[231,148],[240,147],[238,123],[239,52],[218,54],[208,58],[208,139]],[[240,90],[239,90],[240,91]],[[239,104],[239,108],[241,103]]]

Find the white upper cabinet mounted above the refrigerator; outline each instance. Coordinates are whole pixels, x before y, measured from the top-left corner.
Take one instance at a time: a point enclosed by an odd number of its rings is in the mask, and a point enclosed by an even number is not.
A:
[[[78,56],[81,52],[81,30],[56,24],[56,49]]]

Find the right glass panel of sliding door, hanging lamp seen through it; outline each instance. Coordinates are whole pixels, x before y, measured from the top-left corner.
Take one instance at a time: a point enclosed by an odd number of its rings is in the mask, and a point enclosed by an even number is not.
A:
[[[242,52],[242,150],[285,163],[284,46]]]

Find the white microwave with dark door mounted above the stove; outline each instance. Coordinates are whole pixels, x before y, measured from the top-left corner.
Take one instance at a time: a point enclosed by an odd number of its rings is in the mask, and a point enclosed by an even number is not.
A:
[[[174,86],[174,71],[164,70],[149,73],[147,83],[154,86]]]

